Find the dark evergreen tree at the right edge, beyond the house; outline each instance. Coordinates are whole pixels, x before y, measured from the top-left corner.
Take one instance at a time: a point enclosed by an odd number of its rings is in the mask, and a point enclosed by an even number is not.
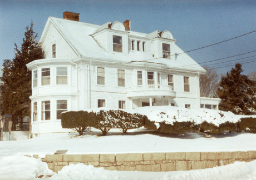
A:
[[[220,110],[231,111],[234,114],[256,114],[256,82],[241,74],[242,65],[237,63],[235,68],[221,77],[218,89]]]

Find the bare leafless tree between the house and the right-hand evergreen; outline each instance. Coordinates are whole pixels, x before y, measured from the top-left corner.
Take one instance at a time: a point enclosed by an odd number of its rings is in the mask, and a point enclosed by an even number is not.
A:
[[[205,74],[200,75],[200,96],[201,97],[216,97],[216,91],[219,87],[220,75],[216,69],[207,67],[203,68],[207,71]]]

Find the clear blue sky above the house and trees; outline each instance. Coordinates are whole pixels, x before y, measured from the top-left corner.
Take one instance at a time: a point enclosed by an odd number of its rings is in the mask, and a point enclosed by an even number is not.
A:
[[[246,0],[180,0],[180,1],[15,1],[0,0],[0,63],[14,57],[14,42],[20,47],[26,27],[33,21],[33,29],[41,36],[49,16],[63,18],[62,13],[80,13],[80,21],[92,24],[131,21],[131,30],[151,33],[168,30],[183,51],[208,46],[256,30],[256,1]],[[38,38],[39,40],[39,38]],[[227,73],[240,62],[244,74],[256,68],[256,52],[233,58],[256,50],[256,32],[217,44],[198,51],[189,52],[198,63],[217,68]],[[245,58],[245,59],[240,59]],[[227,62],[235,59],[238,61]],[[213,64],[216,63],[216,64]],[[213,64],[213,65],[211,65]],[[224,67],[229,66],[229,67]]]

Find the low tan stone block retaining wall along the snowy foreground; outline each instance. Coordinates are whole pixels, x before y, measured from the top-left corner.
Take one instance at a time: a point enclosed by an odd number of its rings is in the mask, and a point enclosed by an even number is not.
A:
[[[34,155],[38,158],[38,155]],[[84,163],[117,171],[188,171],[223,166],[235,161],[250,162],[256,151],[247,152],[177,152],[127,154],[53,154],[42,158],[48,168],[60,171],[69,164]]]

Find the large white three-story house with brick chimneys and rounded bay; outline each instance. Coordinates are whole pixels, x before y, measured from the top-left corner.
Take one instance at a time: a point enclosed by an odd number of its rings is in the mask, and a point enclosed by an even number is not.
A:
[[[61,127],[64,111],[200,108],[199,75],[206,71],[176,46],[169,31],[146,34],[131,31],[128,20],[99,26],[79,17],[49,17],[40,38],[46,58],[27,64],[34,137],[70,131]]]

